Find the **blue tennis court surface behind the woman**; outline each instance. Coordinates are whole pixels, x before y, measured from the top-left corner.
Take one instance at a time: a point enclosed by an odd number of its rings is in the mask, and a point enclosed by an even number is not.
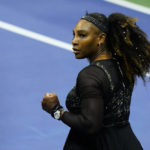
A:
[[[71,44],[72,30],[86,10],[139,18],[150,37],[150,16],[103,0],[0,0],[0,21]],[[69,131],[41,108],[46,92],[65,98],[88,62],[66,49],[0,28],[0,150],[61,150]],[[150,144],[150,82],[138,80],[131,126],[144,150]]]

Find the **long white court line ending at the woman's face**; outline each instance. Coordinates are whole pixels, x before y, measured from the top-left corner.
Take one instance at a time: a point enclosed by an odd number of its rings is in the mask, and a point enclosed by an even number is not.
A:
[[[34,39],[34,40],[38,40],[40,42],[44,42],[46,44],[50,44],[53,46],[57,46],[59,48],[63,48],[65,50],[72,51],[71,44],[56,40],[54,38],[18,27],[18,26],[15,26],[15,25],[3,22],[3,21],[0,21],[0,28],[10,31],[10,32],[13,32],[13,33],[16,33],[16,34],[19,34],[19,35],[22,35],[22,36],[26,36],[26,37]]]

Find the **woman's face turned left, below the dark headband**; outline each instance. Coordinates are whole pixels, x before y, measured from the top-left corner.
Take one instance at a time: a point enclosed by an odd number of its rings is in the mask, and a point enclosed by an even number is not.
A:
[[[80,20],[73,30],[73,52],[77,59],[92,58],[97,53],[99,29],[86,20]]]

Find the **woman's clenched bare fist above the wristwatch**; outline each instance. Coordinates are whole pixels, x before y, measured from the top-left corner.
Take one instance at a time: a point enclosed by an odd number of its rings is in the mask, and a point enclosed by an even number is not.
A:
[[[42,108],[47,111],[48,113],[51,113],[51,110],[59,104],[58,97],[56,93],[46,93],[42,100]]]

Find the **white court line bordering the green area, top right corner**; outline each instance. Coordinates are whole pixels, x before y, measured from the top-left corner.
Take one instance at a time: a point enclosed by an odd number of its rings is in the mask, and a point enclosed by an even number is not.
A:
[[[139,4],[128,2],[128,1],[125,1],[125,0],[104,0],[104,1],[110,2],[110,3],[113,3],[113,4],[117,4],[117,5],[126,7],[126,8],[130,8],[130,9],[145,13],[147,15],[150,15],[150,8],[145,7],[145,6],[141,6]]]

